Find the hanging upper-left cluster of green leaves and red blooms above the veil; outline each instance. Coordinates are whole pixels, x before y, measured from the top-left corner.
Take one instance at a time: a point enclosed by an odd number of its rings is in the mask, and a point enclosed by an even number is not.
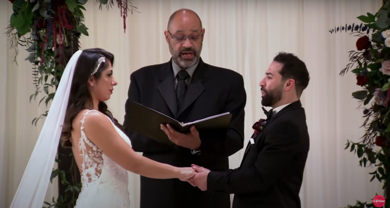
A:
[[[65,57],[74,52],[74,37],[88,35],[83,24],[83,4],[77,0],[66,0],[65,5],[61,5],[60,1],[53,2],[15,0],[7,32],[16,51],[15,62],[18,45],[25,46],[30,53],[25,59],[33,64],[35,93],[30,96],[30,101],[42,95],[39,104],[44,102],[46,107],[54,98],[55,88],[67,63]],[[67,21],[63,20],[64,16]],[[30,37],[23,37],[27,33]],[[46,115],[47,112],[34,118],[33,124],[36,125]]]

